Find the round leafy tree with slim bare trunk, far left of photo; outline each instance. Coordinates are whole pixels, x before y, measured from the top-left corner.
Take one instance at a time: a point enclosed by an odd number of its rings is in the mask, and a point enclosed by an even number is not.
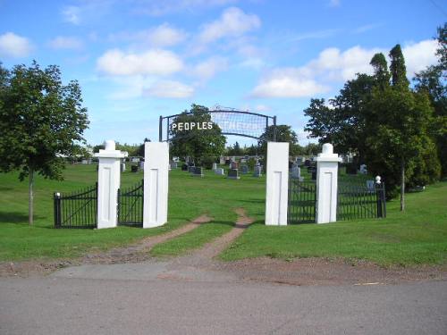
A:
[[[55,65],[2,69],[0,84],[0,170],[29,179],[29,222],[33,223],[36,173],[62,180],[64,158],[83,155],[89,125],[77,81],[63,85]]]

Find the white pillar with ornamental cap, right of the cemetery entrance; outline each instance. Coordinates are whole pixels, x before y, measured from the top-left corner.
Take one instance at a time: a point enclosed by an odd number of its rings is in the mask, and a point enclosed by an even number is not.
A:
[[[316,223],[337,221],[338,163],[333,145],[325,143],[316,157]]]

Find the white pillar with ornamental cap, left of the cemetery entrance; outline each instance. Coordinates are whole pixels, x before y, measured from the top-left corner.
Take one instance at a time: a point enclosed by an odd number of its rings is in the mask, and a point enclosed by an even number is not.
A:
[[[120,188],[121,159],[127,156],[115,150],[113,140],[105,141],[105,149],[95,154],[97,170],[97,229],[116,227],[118,188]]]

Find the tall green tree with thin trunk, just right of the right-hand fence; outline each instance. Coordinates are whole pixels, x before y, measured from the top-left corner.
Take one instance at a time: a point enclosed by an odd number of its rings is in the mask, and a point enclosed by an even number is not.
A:
[[[404,211],[406,182],[417,160],[434,147],[430,136],[434,115],[428,96],[409,89],[401,46],[392,48],[390,58],[392,85],[373,88],[367,105],[375,120],[369,125],[367,164],[368,170],[385,177],[389,191],[400,184]]]

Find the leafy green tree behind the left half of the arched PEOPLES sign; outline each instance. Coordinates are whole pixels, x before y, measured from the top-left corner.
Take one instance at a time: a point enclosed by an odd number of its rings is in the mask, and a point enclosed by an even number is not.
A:
[[[226,138],[222,135],[222,130],[219,126],[211,121],[211,114],[208,113],[208,108],[202,105],[192,105],[190,113],[185,111],[177,116],[173,123],[179,122],[195,122],[195,124],[202,122],[211,122],[211,129],[194,129],[179,130],[178,128],[171,128],[171,154],[177,156],[191,156],[201,164],[203,159],[209,157],[218,157],[223,154],[225,149]]]

